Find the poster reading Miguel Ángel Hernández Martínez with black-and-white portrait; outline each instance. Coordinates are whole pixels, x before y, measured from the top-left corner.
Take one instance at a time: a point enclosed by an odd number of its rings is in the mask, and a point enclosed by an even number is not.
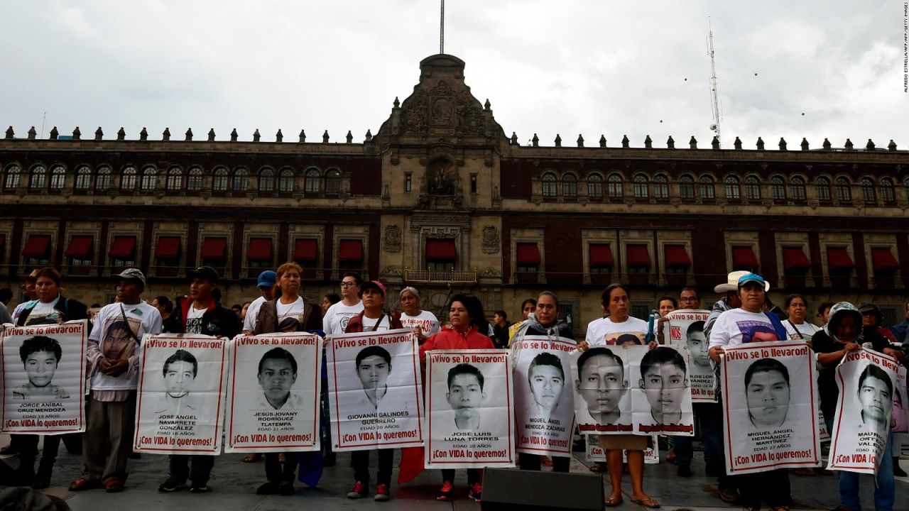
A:
[[[728,474],[820,465],[817,374],[804,341],[727,346],[721,379]]]

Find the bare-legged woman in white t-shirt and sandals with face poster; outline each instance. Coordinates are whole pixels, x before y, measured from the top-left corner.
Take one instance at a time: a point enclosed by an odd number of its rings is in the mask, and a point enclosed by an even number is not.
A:
[[[590,412],[589,416],[584,416],[584,409],[579,408],[578,401],[574,405],[578,410],[577,423],[582,433],[585,422],[594,422],[594,427],[612,426],[604,429],[609,434],[601,435],[599,440],[600,446],[606,449],[606,465],[609,467],[609,481],[612,484],[606,506],[622,504],[622,451],[625,449],[628,451],[632,502],[645,507],[659,507],[658,502],[644,493],[644,449],[648,437],[621,434],[623,431],[630,433],[633,429],[630,402],[625,397],[629,387],[624,370],[625,362],[610,348],[604,347],[643,344],[647,323],[628,315],[630,299],[625,286],[606,286],[601,305],[607,316],[594,319],[587,326],[587,338],[578,344],[584,354],[577,358],[575,366],[575,386],[587,404],[585,409]],[[600,428],[595,430],[601,431]]]

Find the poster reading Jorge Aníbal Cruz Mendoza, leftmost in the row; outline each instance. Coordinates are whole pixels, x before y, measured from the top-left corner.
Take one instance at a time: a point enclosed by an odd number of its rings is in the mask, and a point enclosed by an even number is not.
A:
[[[4,327],[4,433],[85,431],[87,326],[80,320]]]

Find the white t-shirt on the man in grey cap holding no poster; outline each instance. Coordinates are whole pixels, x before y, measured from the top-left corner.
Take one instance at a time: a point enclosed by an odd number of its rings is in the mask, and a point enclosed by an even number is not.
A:
[[[123,306],[123,312],[121,312]],[[124,314],[129,325],[124,325]],[[110,304],[104,306],[95,316],[95,327],[88,336],[88,358],[95,366],[102,356],[115,359],[129,359],[130,369],[120,376],[98,373],[92,376],[93,390],[135,390],[139,379],[139,346],[134,336],[142,339],[145,334],[161,333],[161,313],[153,306],[140,302],[135,305]]]

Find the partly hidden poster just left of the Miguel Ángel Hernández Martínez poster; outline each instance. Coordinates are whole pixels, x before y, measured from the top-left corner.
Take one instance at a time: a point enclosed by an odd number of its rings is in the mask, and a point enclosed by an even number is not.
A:
[[[704,324],[710,311],[700,309],[675,310],[664,318],[664,344],[688,346],[688,383],[695,403],[714,403],[714,369],[710,365],[710,343],[704,336]]]

